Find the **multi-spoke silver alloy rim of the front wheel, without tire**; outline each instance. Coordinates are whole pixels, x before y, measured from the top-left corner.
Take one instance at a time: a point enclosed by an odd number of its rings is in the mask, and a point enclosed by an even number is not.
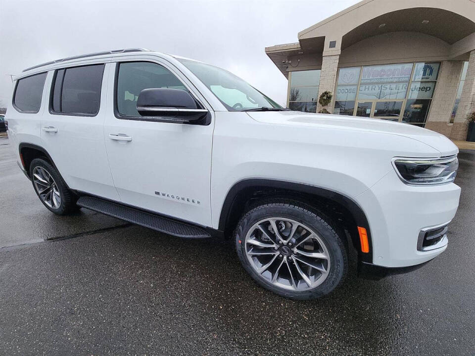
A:
[[[322,284],[330,271],[330,255],[322,238],[303,223],[269,218],[255,223],[245,238],[252,268],[273,285],[305,291]]]

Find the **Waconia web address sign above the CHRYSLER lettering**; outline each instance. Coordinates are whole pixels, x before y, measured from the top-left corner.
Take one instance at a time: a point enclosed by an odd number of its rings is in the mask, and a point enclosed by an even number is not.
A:
[[[413,63],[363,67],[361,84],[409,82]]]

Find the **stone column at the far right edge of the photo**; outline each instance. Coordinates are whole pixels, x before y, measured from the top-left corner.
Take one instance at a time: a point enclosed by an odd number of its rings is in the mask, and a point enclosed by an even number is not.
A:
[[[475,111],[475,49],[470,52],[467,76],[465,77],[462,97],[460,98],[459,108],[455,115],[450,138],[466,140],[468,130],[467,115],[473,111]]]

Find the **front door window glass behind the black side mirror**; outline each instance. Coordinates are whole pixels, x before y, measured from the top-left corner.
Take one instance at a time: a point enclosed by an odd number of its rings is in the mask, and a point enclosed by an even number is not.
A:
[[[137,99],[143,89],[188,89],[165,67],[150,62],[118,63],[116,79],[117,112],[122,116],[140,117]]]

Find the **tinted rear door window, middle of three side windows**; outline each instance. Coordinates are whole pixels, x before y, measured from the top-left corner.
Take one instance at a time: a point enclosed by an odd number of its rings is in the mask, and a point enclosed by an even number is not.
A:
[[[51,110],[61,114],[96,115],[103,72],[104,64],[57,70],[51,89]]]

